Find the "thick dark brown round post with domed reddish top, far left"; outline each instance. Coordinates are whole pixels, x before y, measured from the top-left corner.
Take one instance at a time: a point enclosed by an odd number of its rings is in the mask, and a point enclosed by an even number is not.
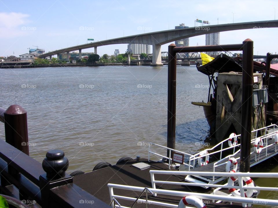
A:
[[[29,155],[27,112],[19,105],[11,105],[4,112],[6,142]]]

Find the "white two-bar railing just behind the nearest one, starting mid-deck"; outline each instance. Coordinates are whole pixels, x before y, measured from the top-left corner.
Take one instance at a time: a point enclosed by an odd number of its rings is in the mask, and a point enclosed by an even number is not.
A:
[[[243,177],[260,177],[260,178],[278,178],[278,173],[242,173],[242,172],[193,172],[193,171],[165,171],[165,170],[150,170],[150,175],[151,175],[151,184],[152,188],[156,189],[156,183],[160,184],[174,184],[174,185],[186,185],[186,186],[204,186],[203,183],[188,183],[188,182],[177,182],[177,181],[159,181],[155,180],[154,174],[168,174],[168,175],[195,175],[195,176],[220,176],[220,177],[234,177],[237,178],[239,181],[239,185],[220,185],[220,184],[206,184],[206,187],[216,187],[217,190],[221,188],[226,188],[226,189],[237,189],[240,190],[241,197],[245,197],[244,195],[244,190],[264,190],[264,191],[278,191],[278,187],[262,187],[262,186],[255,186],[255,187],[248,187],[246,185],[243,185]],[[275,184],[274,184],[275,185]],[[153,192],[153,196],[156,196],[156,192]],[[230,195],[231,196],[231,195]],[[229,196],[229,197],[230,197]],[[234,197],[233,197],[234,198]],[[218,199],[214,199],[218,200]],[[254,199],[253,199],[254,200]],[[225,201],[231,201],[230,200],[225,200]],[[232,200],[233,201],[233,200]],[[266,201],[266,199],[264,199]],[[278,200],[276,200],[278,203]]]

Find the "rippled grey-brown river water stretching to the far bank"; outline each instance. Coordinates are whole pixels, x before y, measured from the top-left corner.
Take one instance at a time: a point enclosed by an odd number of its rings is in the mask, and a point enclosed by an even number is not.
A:
[[[1,69],[1,107],[18,104],[27,111],[32,158],[42,162],[48,150],[61,149],[68,173],[89,172],[101,161],[147,158],[149,142],[167,146],[167,73],[167,66]],[[196,66],[177,66],[180,151],[195,153],[208,144],[203,110],[191,104],[207,101],[208,83]],[[0,137],[5,138],[3,124]],[[276,164],[268,169],[277,172]]]

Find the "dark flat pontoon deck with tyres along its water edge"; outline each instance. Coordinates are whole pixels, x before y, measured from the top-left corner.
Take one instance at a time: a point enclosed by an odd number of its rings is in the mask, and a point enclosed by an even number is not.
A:
[[[126,164],[118,164],[114,166],[110,166],[107,168],[103,168],[100,170],[95,170],[92,172],[88,172],[85,174],[77,175],[73,177],[73,182],[80,186],[83,190],[89,192],[90,194],[94,195],[95,197],[99,198],[103,202],[109,204],[110,203],[110,195],[109,189],[107,187],[108,183],[115,183],[120,185],[131,185],[131,186],[139,186],[139,187],[152,187],[151,186],[151,177],[149,174],[149,170],[169,170],[168,165],[165,165],[161,162],[154,162],[149,161],[147,159],[140,159],[140,162],[145,162],[151,165],[150,168],[145,170],[139,170],[131,166],[131,164],[136,163],[135,160],[128,161]],[[175,170],[175,169],[172,169]],[[173,175],[162,175],[158,174],[156,176],[157,180],[164,180],[164,181],[178,181],[184,182],[184,176],[173,176]],[[202,193],[210,193],[211,190],[206,190],[202,187],[193,187],[193,186],[180,186],[180,185],[169,185],[163,184],[157,185],[159,189],[165,190],[176,190],[176,191],[190,191],[190,192],[202,192]],[[121,196],[129,196],[137,198],[140,192],[122,190],[122,189],[115,189],[114,194],[121,195]],[[192,194],[194,196],[194,193]],[[141,197],[144,199],[145,194]],[[180,197],[173,197],[168,195],[161,195],[158,194],[156,197],[148,195],[149,200],[159,200],[165,203],[173,203],[177,204],[181,200]],[[117,199],[118,200],[118,199]],[[203,199],[205,200],[205,199]],[[118,202],[122,206],[131,207],[133,201],[128,200],[118,200]],[[146,207],[144,203],[136,203],[135,207]],[[156,208],[161,207],[158,205],[149,204],[148,207]],[[216,203],[209,203],[206,207],[242,207],[241,205],[230,205],[230,204],[216,204]]]

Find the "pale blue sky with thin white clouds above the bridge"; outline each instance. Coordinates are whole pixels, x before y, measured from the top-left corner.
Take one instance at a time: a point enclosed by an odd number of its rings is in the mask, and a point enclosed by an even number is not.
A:
[[[0,0],[0,56],[19,56],[29,48],[46,52],[123,36],[175,29],[196,19],[210,25],[278,19],[277,0],[233,1],[121,1],[121,0]],[[144,31],[145,28],[145,31]],[[278,53],[278,28],[220,32],[220,44],[254,41],[254,55]],[[90,42],[90,41],[89,41]],[[167,51],[167,43],[161,51]],[[189,38],[189,45],[205,45],[205,35]],[[98,54],[125,53],[127,44],[98,47]],[[82,52],[94,52],[83,49]]]

